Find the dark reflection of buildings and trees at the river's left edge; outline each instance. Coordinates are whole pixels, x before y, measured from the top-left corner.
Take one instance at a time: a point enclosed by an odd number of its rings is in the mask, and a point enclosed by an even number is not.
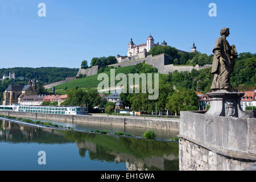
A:
[[[0,140],[7,142],[35,142],[35,143],[67,143],[63,136],[57,135],[54,130],[41,129],[19,125],[18,123],[0,121]]]

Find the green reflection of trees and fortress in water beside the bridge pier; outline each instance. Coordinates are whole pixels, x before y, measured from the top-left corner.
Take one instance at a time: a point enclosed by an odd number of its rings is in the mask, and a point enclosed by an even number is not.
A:
[[[81,157],[88,150],[91,160],[123,162],[128,170],[179,169],[177,143],[72,131],[65,133],[65,138],[76,142]]]

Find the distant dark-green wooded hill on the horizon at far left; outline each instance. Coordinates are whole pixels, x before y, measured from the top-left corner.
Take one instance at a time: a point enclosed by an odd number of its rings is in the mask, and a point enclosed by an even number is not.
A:
[[[0,69],[0,76],[9,75],[9,72],[15,72],[15,77],[25,77],[26,80],[35,78],[43,84],[65,80],[66,77],[76,76],[79,69],[77,68],[56,68],[56,67],[42,67],[42,68],[2,68]]]

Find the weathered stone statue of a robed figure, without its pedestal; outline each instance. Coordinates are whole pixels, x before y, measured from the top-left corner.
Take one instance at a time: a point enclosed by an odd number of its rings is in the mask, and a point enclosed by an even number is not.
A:
[[[212,74],[214,74],[212,86],[214,90],[232,89],[230,85],[230,73],[234,69],[234,59],[237,58],[236,46],[229,46],[226,37],[229,36],[229,28],[222,28],[220,35],[221,37],[216,40],[213,48],[213,64]]]

